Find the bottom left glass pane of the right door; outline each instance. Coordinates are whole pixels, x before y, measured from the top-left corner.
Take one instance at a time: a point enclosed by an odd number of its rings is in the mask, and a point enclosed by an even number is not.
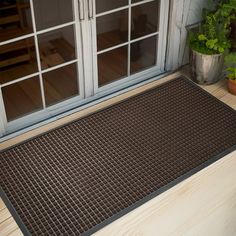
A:
[[[127,46],[98,55],[99,86],[127,76],[127,55]]]

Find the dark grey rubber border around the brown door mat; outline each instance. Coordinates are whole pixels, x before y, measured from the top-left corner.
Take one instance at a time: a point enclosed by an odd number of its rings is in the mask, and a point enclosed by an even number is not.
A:
[[[232,107],[228,106],[227,104],[225,104],[225,103],[222,102],[221,100],[217,99],[216,97],[214,97],[212,94],[210,94],[209,92],[207,92],[207,91],[204,90],[203,88],[199,87],[197,84],[195,84],[193,81],[191,81],[191,80],[190,80],[189,78],[187,78],[186,76],[181,75],[181,76],[178,76],[178,77],[176,77],[176,78],[174,78],[174,79],[171,79],[171,80],[169,80],[169,81],[163,82],[163,83],[160,84],[160,85],[154,86],[153,88],[149,88],[149,89],[147,89],[147,90],[145,90],[145,91],[143,91],[143,92],[141,92],[141,93],[138,93],[138,94],[136,94],[136,95],[133,95],[133,96],[131,96],[131,97],[129,97],[129,98],[126,98],[126,99],[124,99],[124,100],[122,100],[122,101],[119,101],[119,102],[117,102],[117,103],[115,103],[115,104],[111,104],[111,105],[109,105],[109,106],[107,106],[107,107],[105,107],[105,108],[102,108],[102,109],[98,110],[98,111],[95,111],[95,112],[92,112],[92,113],[90,113],[90,114],[87,114],[87,115],[85,115],[85,116],[83,116],[83,117],[81,117],[81,118],[79,118],[79,119],[76,119],[76,120],[73,120],[73,121],[71,121],[71,122],[68,122],[67,124],[60,125],[60,126],[58,126],[58,127],[56,127],[56,128],[53,128],[53,129],[48,130],[48,131],[46,131],[46,132],[43,132],[42,134],[36,135],[36,136],[34,136],[34,137],[32,137],[32,138],[29,138],[29,139],[27,139],[27,140],[24,140],[24,141],[22,141],[22,142],[19,142],[19,143],[15,144],[15,145],[13,145],[13,146],[11,146],[11,147],[8,147],[8,148],[6,148],[6,149],[0,150],[0,153],[5,152],[5,151],[8,151],[8,150],[11,150],[11,149],[13,149],[13,148],[15,148],[15,147],[17,147],[17,146],[19,146],[19,145],[21,145],[21,144],[24,144],[24,143],[29,142],[30,140],[33,140],[33,139],[36,139],[36,138],[41,137],[41,136],[43,136],[43,135],[46,135],[46,134],[48,134],[48,133],[51,132],[51,131],[60,129],[60,128],[62,128],[62,127],[64,127],[64,126],[67,126],[67,125],[69,125],[69,124],[73,124],[73,123],[77,122],[77,121],[80,120],[80,119],[83,119],[83,118],[88,117],[88,116],[91,116],[91,115],[93,115],[93,114],[102,112],[102,111],[107,110],[107,109],[109,109],[109,108],[111,108],[111,107],[113,107],[113,106],[116,106],[116,105],[118,105],[118,104],[122,104],[122,103],[124,103],[124,102],[125,102],[126,100],[128,100],[128,99],[131,99],[131,98],[134,98],[134,97],[138,97],[138,96],[140,96],[140,95],[142,95],[142,94],[144,94],[144,93],[146,93],[146,92],[148,92],[148,91],[151,91],[151,90],[157,89],[157,88],[159,88],[159,87],[162,87],[162,86],[164,86],[164,85],[166,85],[166,84],[169,84],[169,83],[171,83],[171,82],[173,82],[174,80],[177,80],[177,79],[184,79],[184,80],[187,81],[189,84],[193,85],[194,87],[196,87],[197,89],[201,90],[201,91],[204,92],[206,95],[208,95],[209,97],[211,97],[211,99],[212,99],[212,98],[215,99],[217,102],[220,102],[222,105],[224,105],[225,108],[230,109],[231,111],[233,111],[233,112],[236,113],[236,111],[235,111]],[[175,179],[175,180],[173,180],[172,182],[166,184],[165,186],[161,187],[160,189],[158,189],[158,190],[152,192],[151,194],[147,195],[146,197],[140,199],[139,201],[133,203],[133,204],[130,205],[129,207],[127,207],[127,208],[121,210],[120,212],[116,213],[115,215],[111,216],[110,218],[107,218],[107,219],[104,220],[103,222],[97,224],[96,226],[94,226],[94,227],[92,227],[91,229],[87,230],[86,232],[82,233],[81,236],[89,236],[89,235],[91,235],[91,234],[96,233],[97,231],[99,231],[100,229],[102,229],[102,228],[104,228],[105,226],[109,225],[110,223],[114,222],[115,220],[121,218],[122,216],[126,215],[127,213],[131,212],[132,210],[134,210],[134,209],[140,207],[141,205],[143,205],[143,204],[145,204],[146,202],[152,200],[153,198],[157,197],[158,195],[160,195],[160,194],[166,192],[166,191],[169,190],[170,188],[172,188],[172,187],[176,186],[177,184],[183,182],[184,180],[186,180],[186,179],[188,179],[189,177],[193,176],[194,174],[200,172],[201,170],[205,169],[206,167],[209,167],[210,165],[214,164],[215,162],[217,162],[218,160],[222,159],[223,157],[227,156],[228,154],[232,153],[232,152],[235,151],[235,150],[236,150],[236,145],[234,145],[234,146],[232,146],[232,147],[226,149],[226,150],[223,151],[222,153],[220,153],[220,154],[218,154],[218,155],[216,155],[216,156],[210,158],[208,161],[202,163],[201,165],[197,166],[196,168],[190,170],[189,172],[187,172],[187,173],[185,173],[185,174],[179,176],[177,179]],[[0,186],[0,197],[2,198],[2,200],[3,200],[3,202],[5,203],[7,209],[8,209],[9,212],[11,213],[11,215],[12,215],[12,217],[14,218],[14,220],[16,221],[16,223],[18,224],[18,226],[19,226],[20,230],[22,231],[23,235],[25,235],[25,236],[30,236],[31,234],[30,234],[29,230],[27,229],[27,227],[25,226],[25,224],[24,224],[23,221],[21,220],[20,216],[18,215],[17,211],[15,210],[15,208],[13,207],[13,205],[11,204],[10,200],[8,199],[7,195],[5,194],[5,192],[3,191],[3,189],[1,188],[1,186]]]

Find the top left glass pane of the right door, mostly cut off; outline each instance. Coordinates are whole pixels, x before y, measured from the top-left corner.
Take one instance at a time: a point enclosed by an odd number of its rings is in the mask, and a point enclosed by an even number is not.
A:
[[[96,12],[101,13],[128,5],[128,0],[96,0]]]

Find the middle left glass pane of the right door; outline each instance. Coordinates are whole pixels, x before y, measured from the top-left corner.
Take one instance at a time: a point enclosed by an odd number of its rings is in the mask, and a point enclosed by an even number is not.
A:
[[[128,11],[119,11],[97,18],[98,51],[128,41]]]

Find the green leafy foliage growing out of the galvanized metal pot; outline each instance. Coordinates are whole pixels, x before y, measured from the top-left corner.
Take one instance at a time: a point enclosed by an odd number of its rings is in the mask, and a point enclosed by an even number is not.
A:
[[[202,11],[201,24],[188,39],[193,50],[208,55],[224,53],[231,47],[230,24],[236,16],[236,0],[211,2],[211,6]]]

